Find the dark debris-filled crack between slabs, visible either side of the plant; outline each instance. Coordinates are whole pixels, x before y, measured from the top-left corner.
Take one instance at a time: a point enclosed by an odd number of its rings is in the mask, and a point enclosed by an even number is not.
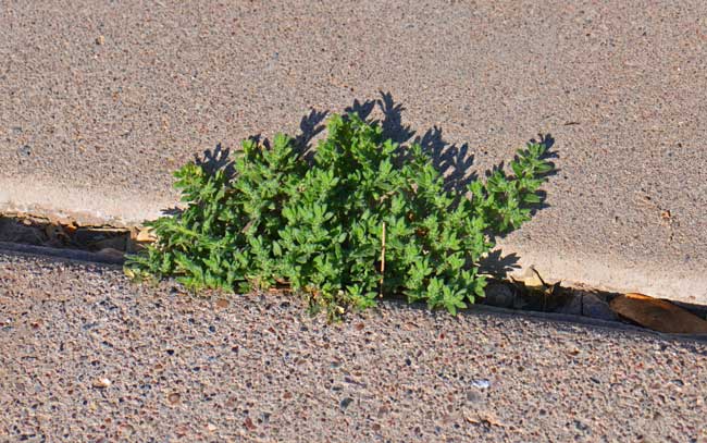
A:
[[[137,227],[79,225],[71,220],[50,220],[28,214],[0,214],[0,249],[9,248],[70,259],[122,263],[125,254],[138,253],[146,244],[152,243],[154,239],[148,230]],[[624,306],[617,311],[612,302],[618,297],[624,297],[623,294],[584,287],[567,287],[561,285],[561,282],[547,284],[536,271],[532,271],[534,275],[531,273],[529,279],[523,280],[492,276],[485,291],[486,296],[479,299],[477,303],[519,311],[565,313],[605,321],[628,321],[655,330],[667,328],[665,332],[699,333],[707,328],[700,323],[697,324],[695,331],[687,331],[684,330],[683,324],[670,324],[684,323],[685,317],[680,312],[678,312],[678,317],[674,317],[671,309],[666,309],[668,300],[646,300],[635,297],[636,294],[634,294],[633,297],[630,297],[630,304],[624,302]],[[636,300],[641,300],[641,303]],[[656,303],[662,305],[657,306]],[[674,303],[674,305],[700,320],[707,317],[706,306],[682,303]],[[662,310],[657,311],[657,308]],[[647,318],[650,324],[641,321],[644,318]],[[658,327],[653,324],[655,318],[661,318],[661,324]],[[691,321],[694,323],[696,320],[691,319]]]

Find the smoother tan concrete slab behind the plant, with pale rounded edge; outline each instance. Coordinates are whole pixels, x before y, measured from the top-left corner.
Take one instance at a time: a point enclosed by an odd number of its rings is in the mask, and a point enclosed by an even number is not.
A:
[[[3,1],[0,60],[1,208],[140,222],[195,153],[383,91],[463,172],[551,134],[520,264],[707,303],[703,0]]]

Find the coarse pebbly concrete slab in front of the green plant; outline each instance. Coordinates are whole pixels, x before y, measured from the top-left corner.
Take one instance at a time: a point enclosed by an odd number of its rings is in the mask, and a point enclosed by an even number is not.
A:
[[[707,347],[386,305],[330,325],[0,255],[0,441],[704,442]]]

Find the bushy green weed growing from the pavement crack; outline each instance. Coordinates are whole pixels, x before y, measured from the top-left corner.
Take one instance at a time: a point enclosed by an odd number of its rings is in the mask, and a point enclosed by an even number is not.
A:
[[[159,239],[126,272],[190,288],[287,285],[332,317],[383,295],[451,313],[482,297],[480,258],[541,201],[545,146],[519,151],[512,176],[496,169],[448,192],[419,145],[404,151],[355,113],[333,115],[327,130],[311,162],[277,135],[272,147],[244,141],[231,180],[179,169],[186,209],[148,223]]]

